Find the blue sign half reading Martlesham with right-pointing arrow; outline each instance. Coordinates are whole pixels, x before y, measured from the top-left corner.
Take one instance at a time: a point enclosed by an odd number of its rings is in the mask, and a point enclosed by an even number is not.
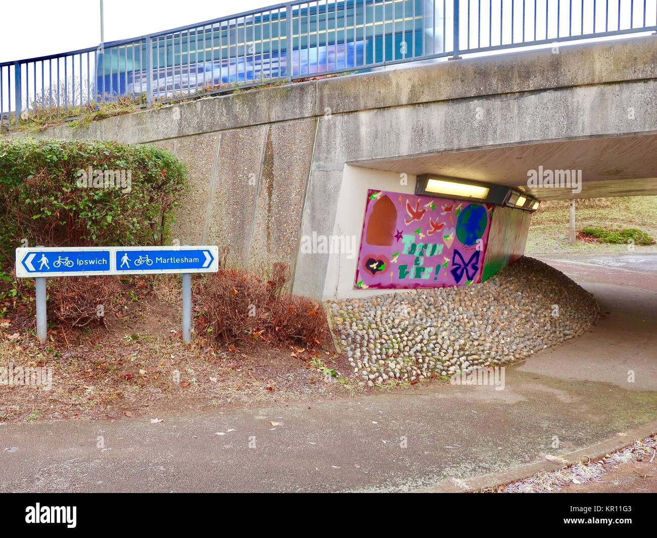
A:
[[[118,273],[140,272],[200,272],[212,271],[215,262],[212,249],[154,248],[117,250],[114,258]]]

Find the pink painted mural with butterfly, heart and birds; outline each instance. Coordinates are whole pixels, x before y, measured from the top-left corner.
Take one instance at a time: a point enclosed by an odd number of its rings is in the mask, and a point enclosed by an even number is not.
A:
[[[369,189],[356,289],[477,283],[492,206]]]

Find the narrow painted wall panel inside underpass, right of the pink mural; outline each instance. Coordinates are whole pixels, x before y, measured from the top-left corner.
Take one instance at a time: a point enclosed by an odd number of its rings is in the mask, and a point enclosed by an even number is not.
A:
[[[512,264],[525,252],[532,214],[511,207],[495,207],[488,236],[482,282]]]

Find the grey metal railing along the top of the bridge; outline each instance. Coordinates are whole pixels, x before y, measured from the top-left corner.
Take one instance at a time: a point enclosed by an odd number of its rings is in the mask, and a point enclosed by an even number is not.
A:
[[[657,0],[292,1],[0,63],[0,128],[45,110],[150,105],[242,85],[657,30]]]

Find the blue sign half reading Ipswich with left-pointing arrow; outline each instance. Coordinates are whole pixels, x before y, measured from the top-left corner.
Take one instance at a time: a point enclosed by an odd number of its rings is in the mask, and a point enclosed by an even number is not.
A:
[[[109,249],[18,249],[17,276],[110,274]]]

